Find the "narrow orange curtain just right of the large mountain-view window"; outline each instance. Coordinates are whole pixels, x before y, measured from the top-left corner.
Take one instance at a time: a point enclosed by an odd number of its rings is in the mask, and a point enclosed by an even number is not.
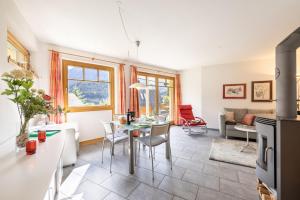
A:
[[[126,83],[124,64],[119,66],[119,112],[120,114],[126,113]]]

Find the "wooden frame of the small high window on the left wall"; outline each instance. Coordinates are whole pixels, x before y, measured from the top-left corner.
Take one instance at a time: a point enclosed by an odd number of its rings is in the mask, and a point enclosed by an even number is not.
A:
[[[21,54],[24,55],[26,64],[24,65],[22,63],[19,63],[17,60],[14,60],[11,57],[9,57],[9,55],[7,55],[8,63],[17,65],[21,68],[29,69],[30,68],[30,52],[29,52],[29,50],[26,49],[26,47],[10,31],[7,31],[7,42],[9,42]],[[7,51],[7,47],[6,47],[6,51]]]

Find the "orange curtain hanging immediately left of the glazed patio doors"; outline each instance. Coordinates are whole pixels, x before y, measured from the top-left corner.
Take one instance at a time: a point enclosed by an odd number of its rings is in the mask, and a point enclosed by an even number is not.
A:
[[[137,83],[137,69],[136,66],[130,66],[130,85]],[[140,116],[139,108],[139,93],[137,89],[130,88],[130,105],[129,110],[135,112],[135,116]]]

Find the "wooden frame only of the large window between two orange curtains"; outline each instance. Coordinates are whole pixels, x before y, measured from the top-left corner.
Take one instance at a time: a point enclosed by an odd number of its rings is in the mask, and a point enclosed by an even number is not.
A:
[[[109,82],[110,83],[110,105],[104,105],[104,106],[76,106],[72,107],[68,104],[68,66],[78,66],[83,69],[89,68],[89,69],[97,69],[102,71],[108,71],[109,72]],[[114,79],[114,68],[113,67],[107,67],[103,65],[98,64],[91,64],[91,63],[84,63],[84,62],[78,62],[73,60],[62,60],[62,69],[63,69],[63,95],[64,95],[64,104],[65,108],[69,112],[88,112],[88,111],[101,111],[101,110],[112,110],[114,113],[115,110],[115,79]],[[84,76],[84,72],[83,72]],[[99,76],[99,73],[98,73]],[[88,81],[88,82],[96,82],[96,81]]]

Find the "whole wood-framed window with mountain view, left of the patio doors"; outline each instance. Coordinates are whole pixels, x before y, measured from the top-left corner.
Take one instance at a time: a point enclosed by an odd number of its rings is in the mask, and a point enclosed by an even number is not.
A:
[[[114,69],[63,60],[65,105],[71,112],[114,109]]]

